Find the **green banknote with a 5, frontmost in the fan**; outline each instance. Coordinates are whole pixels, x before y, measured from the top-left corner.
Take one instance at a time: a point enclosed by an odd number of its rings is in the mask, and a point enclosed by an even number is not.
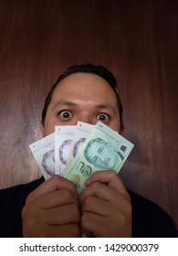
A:
[[[76,184],[80,193],[85,188],[85,180],[93,172],[106,169],[119,172],[132,148],[133,144],[119,133],[98,122],[64,176]]]

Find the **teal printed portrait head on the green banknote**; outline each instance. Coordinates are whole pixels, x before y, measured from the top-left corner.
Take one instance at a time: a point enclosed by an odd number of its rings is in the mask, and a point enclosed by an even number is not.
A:
[[[104,141],[95,141],[91,144],[87,158],[93,165],[103,169],[117,170],[120,165],[120,156]]]

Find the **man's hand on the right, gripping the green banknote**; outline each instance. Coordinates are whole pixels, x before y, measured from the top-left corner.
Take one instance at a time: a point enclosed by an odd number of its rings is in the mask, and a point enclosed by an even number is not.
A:
[[[91,237],[131,237],[131,199],[115,171],[97,171],[79,197],[80,225]]]

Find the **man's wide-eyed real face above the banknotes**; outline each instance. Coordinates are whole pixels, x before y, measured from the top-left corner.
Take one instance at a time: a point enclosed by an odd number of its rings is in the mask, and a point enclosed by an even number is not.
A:
[[[41,131],[55,132],[56,125],[76,125],[78,121],[98,121],[120,133],[118,101],[110,84],[95,74],[75,73],[58,83],[47,108]]]

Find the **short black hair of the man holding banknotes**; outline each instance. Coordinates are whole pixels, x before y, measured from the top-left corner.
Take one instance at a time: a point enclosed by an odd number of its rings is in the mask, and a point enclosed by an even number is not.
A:
[[[69,75],[75,74],[75,73],[96,74],[99,77],[103,78],[104,80],[108,81],[108,83],[110,84],[110,87],[113,89],[113,91],[116,94],[116,98],[117,98],[117,101],[118,101],[118,108],[119,108],[119,112],[120,112],[120,129],[123,130],[124,129],[123,120],[122,120],[123,108],[122,108],[122,104],[121,104],[121,101],[120,101],[120,94],[119,94],[119,89],[118,89],[118,86],[117,86],[117,81],[116,81],[115,77],[113,76],[113,74],[110,72],[109,69],[106,69],[104,66],[100,66],[100,65],[95,66],[91,63],[71,66],[67,69],[66,72],[64,72],[62,75],[60,75],[58,77],[58,80],[53,84],[51,90],[47,94],[47,99],[45,101],[44,109],[43,109],[43,112],[42,112],[42,123],[43,123],[43,125],[45,124],[48,105],[51,101],[53,92],[55,91],[56,87],[58,86],[58,83],[61,80],[68,77]]]

